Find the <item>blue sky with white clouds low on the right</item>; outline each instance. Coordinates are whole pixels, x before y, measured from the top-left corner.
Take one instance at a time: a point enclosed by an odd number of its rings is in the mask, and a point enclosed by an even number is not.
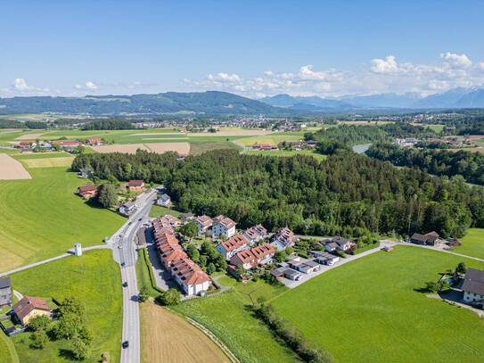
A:
[[[4,3],[0,95],[429,94],[484,84],[484,2],[340,3]]]

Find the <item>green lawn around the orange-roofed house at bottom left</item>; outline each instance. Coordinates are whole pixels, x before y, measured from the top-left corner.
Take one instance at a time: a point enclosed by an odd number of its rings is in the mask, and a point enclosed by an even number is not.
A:
[[[12,275],[12,286],[23,294],[62,300],[78,297],[86,306],[86,326],[94,332],[93,355],[98,362],[104,351],[119,361],[122,323],[121,276],[111,251],[91,251],[81,258],[68,257]],[[21,362],[72,361],[70,342],[47,342],[43,350],[29,348],[29,334],[12,337]]]

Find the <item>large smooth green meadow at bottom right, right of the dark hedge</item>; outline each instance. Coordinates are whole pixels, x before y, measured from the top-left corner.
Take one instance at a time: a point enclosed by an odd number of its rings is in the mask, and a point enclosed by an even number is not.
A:
[[[332,269],[272,303],[340,362],[484,361],[482,319],[414,291],[462,260],[484,268],[447,253],[399,246]]]

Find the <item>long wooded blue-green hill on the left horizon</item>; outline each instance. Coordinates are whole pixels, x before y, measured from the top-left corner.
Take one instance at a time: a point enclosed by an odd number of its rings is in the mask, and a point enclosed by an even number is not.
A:
[[[99,95],[86,97],[12,97],[0,99],[0,113],[197,113],[284,114],[290,111],[226,92],[167,92],[157,95]]]

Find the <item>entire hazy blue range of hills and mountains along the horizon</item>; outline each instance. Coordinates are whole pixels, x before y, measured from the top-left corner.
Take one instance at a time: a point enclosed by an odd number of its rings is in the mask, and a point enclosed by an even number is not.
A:
[[[341,97],[274,95],[259,100],[227,92],[166,92],[156,95],[29,96],[0,98],[0,114],[312,114],[387,109],[484,108],[484,88],[454,88],[422,96],[416,93]]]

